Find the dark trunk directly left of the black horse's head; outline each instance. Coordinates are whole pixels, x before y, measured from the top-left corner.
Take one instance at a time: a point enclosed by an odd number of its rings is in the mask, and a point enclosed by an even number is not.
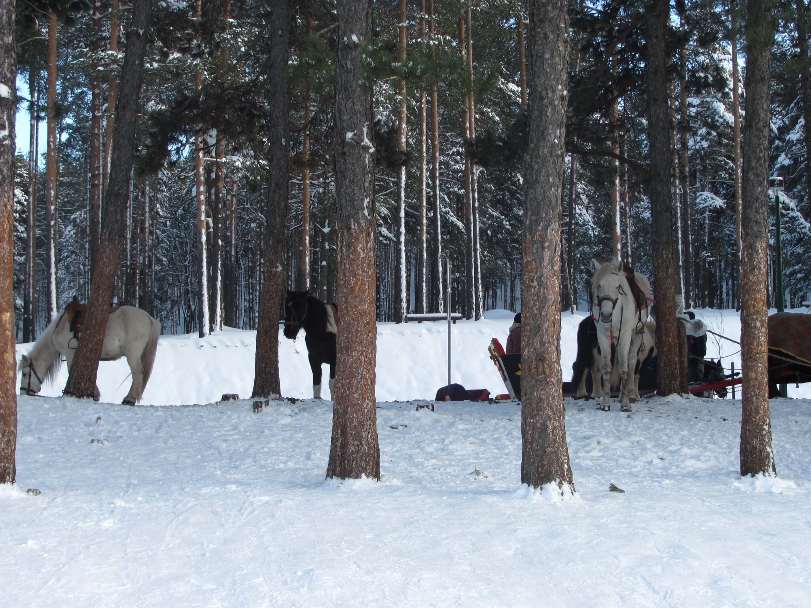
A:
[[[268,94],[268,203],[265,207],[265,259],[259,327],[256,330],[254,398],[281,396],[279,382],[279,311],[285,289],[285,224],[290,187],[290,86],[287,40],[290,6],[281,0],[271,11],[271,86]]]

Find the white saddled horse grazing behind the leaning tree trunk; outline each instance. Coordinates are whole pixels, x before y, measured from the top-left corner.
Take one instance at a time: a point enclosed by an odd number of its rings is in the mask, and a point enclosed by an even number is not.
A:
[[[122,403],[135,405],[144,396],[160,335],[161,323],[135,306],[119,306],[109,313],[104,345],[101,347],[101,361],[127,358],[132,371],[132,386]],[[64,310],[45,328],[31,352],[23,355],[19,362],[18,370],[22,372],[19,394],[36,395],[43,383],[53,382],[62,367],[62,356],[65,357],[67,370],[70,372],[78,344],[79,340],[71,330],[67,310]],[[93,398],[101,398],[98,387]]]

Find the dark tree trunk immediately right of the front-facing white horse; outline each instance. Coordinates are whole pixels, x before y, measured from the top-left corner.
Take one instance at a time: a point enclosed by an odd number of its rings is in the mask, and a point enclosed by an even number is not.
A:
[[[646,9],[648,139],[650,141],[650,215],[654,233],[656,287],[656,391],[671,395],[681,387],[676,332],[676,261],[673,259],[673,219],[670,199],[670,139],[667,135],[667,0],[653,0]]]

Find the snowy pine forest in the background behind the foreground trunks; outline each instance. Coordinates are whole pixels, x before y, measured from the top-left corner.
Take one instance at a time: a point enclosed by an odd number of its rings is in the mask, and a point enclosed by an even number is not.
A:
[[[165,333],[259,323],[275,144],[270,7],[152,6],[114,300],[148,310]],[[374,115],[376,318],[444,311],[447,280],[454,312],[467,318],[520,310],[529,6],[373,7],[363,83]],[[688,306],[740,307],[745,8],[735,0],[671,5],[672,242],[676,292]],[[807,8],[804,0],[777,4],[771,62],[769,173],[786,186],[787,306],[811,289]],[[26,152],[14,176],[18,341],[34,339],[74,294],[88,299],[132,9],[124,0],[17,2],[18,116],[32,131],[18,139]],[[583,308],[593,258],[621,255],[654,277],[645,11],[634,0],[569,2],[561,310]],[[328,301],[337,300],[334,152],[344,136],[335,131],[336,19],[333,0],[290,4],[284,272],[291,289]],[[774,199],[769,208],[771,304]]]

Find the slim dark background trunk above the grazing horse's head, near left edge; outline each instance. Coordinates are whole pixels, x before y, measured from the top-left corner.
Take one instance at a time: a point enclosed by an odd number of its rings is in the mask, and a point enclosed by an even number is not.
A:
[[[33,62],[32,62],[33,64]],[[37,158],[36,126],[39,123],[39,108],[36,106],[37,70],[33,65],[28,78],[28,113],[31,117],[30,140],[28,145],[28,217],[25,233],[25,294],[23,302],[23,340],[36,339],[36,182],[39,175]]]

